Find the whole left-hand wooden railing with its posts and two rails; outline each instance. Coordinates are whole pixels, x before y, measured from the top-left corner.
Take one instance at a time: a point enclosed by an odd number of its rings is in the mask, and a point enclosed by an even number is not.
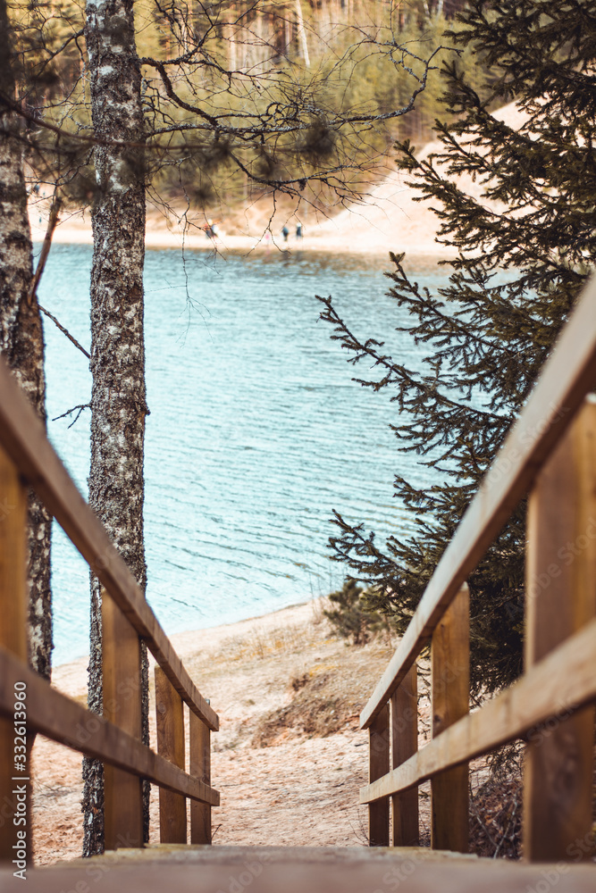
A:
[[[27,494],[38,492],[102,585],[103,716],[27,665]],[[141,743],[140,641],[154,655],[157,749]],[[185,771],[184,704],[189,707]],[[163,843],[211,843],[210,732],[217,714],[0,361],[0,860],[31,852],[29,750],[38,732],[105,765],[105,848],[142,847],[142,780],[160,788]],[[25,746],[26,742],[26,746]],[[22,817],[22,821],[21,821]]]

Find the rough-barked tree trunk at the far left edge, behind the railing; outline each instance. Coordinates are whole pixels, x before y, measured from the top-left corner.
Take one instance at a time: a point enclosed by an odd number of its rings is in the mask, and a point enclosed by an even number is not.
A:
[[[5,0],[0,0],[0,93],[14,96],[11,33]],[[21,388],[46,423],[44,336],[37,297],[29,302],[33,276],[27,189],[17,116],[0,106],[0,351]],[[52,519],[29,494],[29,660],[50,678]]]

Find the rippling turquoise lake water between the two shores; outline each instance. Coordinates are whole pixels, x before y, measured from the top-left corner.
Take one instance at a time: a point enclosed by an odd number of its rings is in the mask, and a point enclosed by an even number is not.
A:
[[[91,248],[54,246],[40,303],[89,344]],[[327,557],[332,509],[379,534],[408,530],[395,472],[390,394],[351,380],[347,355],[318,321],[332,294],[353,330],[386,338],[418,365],[385,296],[384,257],[306,252],[227,260],[149,251],[146,263],[147,597],[168,633],[234,622],[340,585]],[[442,276],[422,271],[436,284]],[[50,419],[90,395],[86,358],[45,321]],[[424,348],[423,348],[424,349]],[[357,367],[365,376],[365,363]],[[72,418],[72,417],[71,417]],[[89,413],[49,422],[58,453],[87,494]],[[55,663],[88,652],[86,564],[55,531]]]

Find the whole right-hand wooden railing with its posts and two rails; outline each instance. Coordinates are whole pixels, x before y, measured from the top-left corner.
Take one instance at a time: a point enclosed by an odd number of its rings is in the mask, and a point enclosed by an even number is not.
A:
[[[418,843],[417,789],[430,779],[432,847],[466,852],[469,761],[524,739],[525,857],[592,855],[595,387],[592,279],[361,714],[372,846]],[[526,495],[525,672],[469,714],[466,579]],[[416,661],[429,642],[432,740],[418,751]]]

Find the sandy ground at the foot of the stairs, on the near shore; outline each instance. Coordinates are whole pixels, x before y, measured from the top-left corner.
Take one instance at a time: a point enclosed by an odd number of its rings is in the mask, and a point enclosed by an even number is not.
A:
[[[220,715],[212,778],[222,794],[214,843],[359,846],[366,840],[367,733],[357,717],[389,661],[386,640],[333,638],[321,600],[256,620],[186,632],[172,643]],[[55,669],[80,703],[87,659]],[[151,737],[155,699],[151,672]],[[33,839],[38,864],[80,855],[80,755],[43,738],[34,747]],[[152,841],[159,819],[154,791]]]

